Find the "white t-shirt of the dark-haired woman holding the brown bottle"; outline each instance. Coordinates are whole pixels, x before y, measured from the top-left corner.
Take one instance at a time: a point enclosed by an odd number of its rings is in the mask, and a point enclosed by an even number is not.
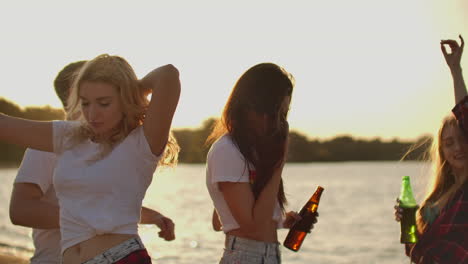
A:
[[[220,217],[224,233],[240,226],[232,216],[223,193],[219,190],[218,182],[249,182],[250,175],[254,173],[255,170],[249,170],[243,155],[229,135],[222,136],[211,146],[207,156],[206,186]],[[282,227],[283,214],[278,202],[272,219],[278,222],[279,228]]]

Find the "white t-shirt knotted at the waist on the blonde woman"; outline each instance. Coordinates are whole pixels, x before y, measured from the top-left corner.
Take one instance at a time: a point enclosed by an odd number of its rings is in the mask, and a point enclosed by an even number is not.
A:
[[[89,162],[99,153],[99,144],[86,140],[69,149],[71,131],[79,125],[53,122],[62,253],[96,235],[138,234],[142,200],[160,158],[139,126],[106,157]]]

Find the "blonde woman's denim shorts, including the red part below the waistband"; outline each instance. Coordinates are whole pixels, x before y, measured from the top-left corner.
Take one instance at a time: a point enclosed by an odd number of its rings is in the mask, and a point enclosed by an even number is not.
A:
[[[83,264],[111,264],[111,263],[151,263],[143,243],[139,237],[126,240],[114,246]]]

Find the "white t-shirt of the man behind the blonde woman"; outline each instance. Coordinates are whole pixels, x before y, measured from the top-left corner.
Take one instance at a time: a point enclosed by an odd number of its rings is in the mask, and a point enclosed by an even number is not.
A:
[[[44,196],[42,201],[58,207],[52,177],[57,156],[54,153],[27,149],[23,161],[18,169],[15,183],[32,183],[39,186]],[[60,230],[36,229],[32,231],[34,243],[34,255],[31,264],[59,264],[60,254]]]

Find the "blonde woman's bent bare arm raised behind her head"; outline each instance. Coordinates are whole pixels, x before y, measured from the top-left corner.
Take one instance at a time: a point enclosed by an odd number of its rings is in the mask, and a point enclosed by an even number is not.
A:
[[[166,146],[172,118],[179,102],[179,71],[170,64],[159,67],[148,73],[141,84],[152,91],[143,129],[151,151],[159,155]]]

